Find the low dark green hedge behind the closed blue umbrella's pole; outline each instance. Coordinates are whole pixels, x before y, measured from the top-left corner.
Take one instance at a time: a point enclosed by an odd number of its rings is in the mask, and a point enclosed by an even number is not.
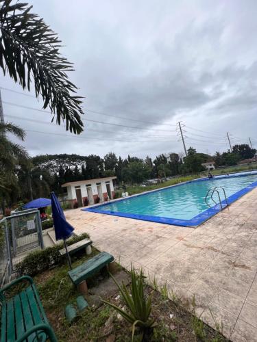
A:
[[[88,238],[89,235],[83,233],[82,235],[74,235],[71,239],[66,241],[68,246],[75,244],[75,242]],[[53,265],[57,265],[62,261],[59,250],[64,248],[64,244],[58,244],[53,247],[45,248],[44,250],[35,250],[29,253],[21,263],[16,265],[16,272],[18,276],[27,274],[28,276],[35,276],[38,273],[44,272]]]

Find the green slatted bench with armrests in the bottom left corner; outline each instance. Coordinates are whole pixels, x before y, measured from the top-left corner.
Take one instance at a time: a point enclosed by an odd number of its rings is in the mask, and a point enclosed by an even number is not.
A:
[[[16,295],[5,291],[26,280],[29,285]],[[47,321],[38,291],[32,278],[22,276],[0,290],[1,342],[57,342],[56,335]]]

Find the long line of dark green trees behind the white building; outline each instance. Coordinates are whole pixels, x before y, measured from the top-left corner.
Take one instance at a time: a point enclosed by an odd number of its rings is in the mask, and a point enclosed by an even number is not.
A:
[[[23,151],[24,152],[24,151]],[[178,153],[160,154],[155,159],[131,157],[125,159],[115,153],[99,155],[22,155],[12,159],[16,162],[15,176],[10,182],[5,198],[8,202],[48,197],[51,191],[62,194],[62,185],[72,181],[117,176],[119,184],[141,184],[147,179],[163,179],[169,176],[191,174],[204,171],[201,163],[215,161],[216,167],[236,165],[242,159],[254,157],[256,150],[246,144],[235,145],[232,152],[208,155],[197,153],[195,148],[187,150],[187,157]],[[6,162],[6,159],[5,159]],[[12,168],[13,168],[12,164]]]

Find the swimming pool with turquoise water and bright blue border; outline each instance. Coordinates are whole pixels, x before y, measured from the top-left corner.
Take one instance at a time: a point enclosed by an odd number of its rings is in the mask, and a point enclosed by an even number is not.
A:
[[[210,200],[208,202],[214,206],[208,207],[204,200],[208,190],[214,187],[225,189],[230,204],[257,187],[257,172],[196,179],[82,210],[178,226],[197,226],[221,210],[220,205],[214,205]],[[222,192],[221,200],[224,207]]]

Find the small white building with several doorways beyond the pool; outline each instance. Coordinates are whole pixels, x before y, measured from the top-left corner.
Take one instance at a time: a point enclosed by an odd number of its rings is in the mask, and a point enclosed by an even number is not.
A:
[[[114,198],[113,180],[117,179],[116,176],[86,179],[86,181],[77,181],[64,183],[62,187],[66,187],[68,200],[73,208],[77,202],[78,207],[85,205],[93,205],[99,201]],[[98,199],[99,198],[99,199]]]

